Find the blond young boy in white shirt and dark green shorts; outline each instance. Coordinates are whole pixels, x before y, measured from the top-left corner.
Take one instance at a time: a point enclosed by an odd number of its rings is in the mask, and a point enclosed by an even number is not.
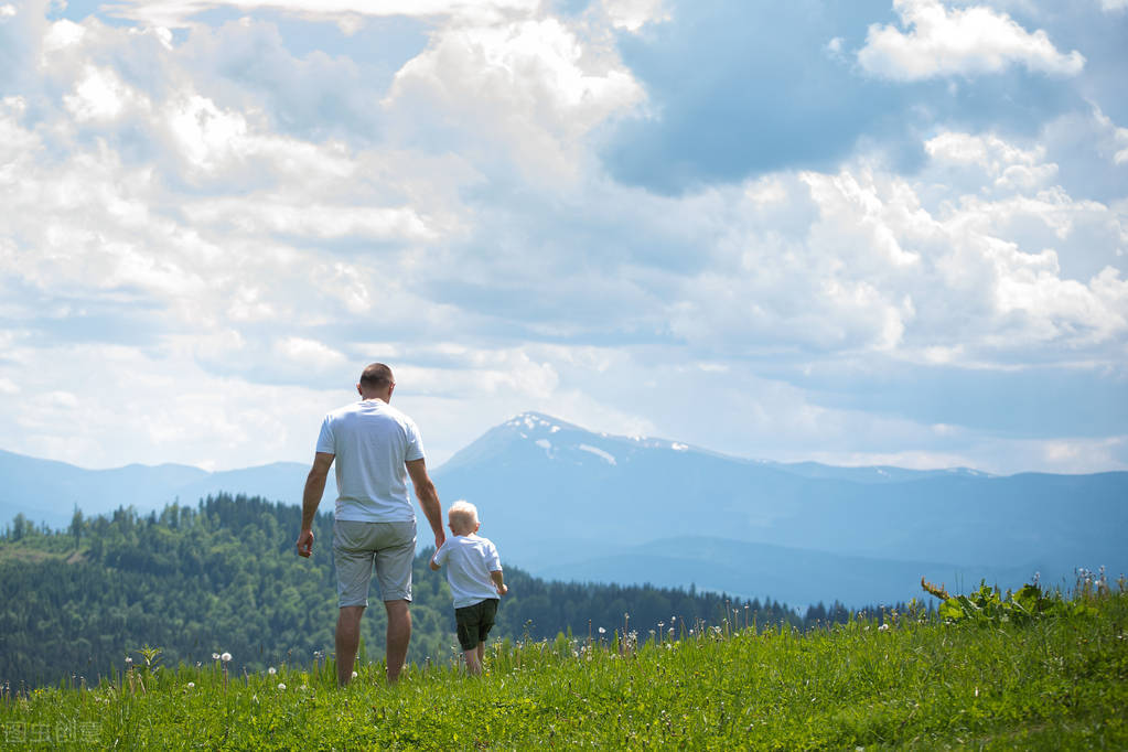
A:
[[[431,557],[431,568],[438,572],[447,564],[458,643],[466,655],[466,670],[477,675],[482,673],[486,636],[497,613],[497,596],[509,592],[509,587],[502,581],[497,548],[477,534],[482,527],[478,508],[459,499],[450,505],[447,520],[453,538],[448,538]]]

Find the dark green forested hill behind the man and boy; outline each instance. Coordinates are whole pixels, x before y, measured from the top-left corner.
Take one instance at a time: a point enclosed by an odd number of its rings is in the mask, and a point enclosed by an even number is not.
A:
[[[307,666],[331,656],[336,623],[332,515],[315,522],[310,559],[293,541],[301,510],[262,498],[219,495],[196,506],[171,504],[139,515],[120,508],[83,517],[65,530],[23,516],[0,536],[0,684],[56,683],[122,671],[142,647],[160,648],[166,666],[206,664],[230,653],[236,670]],[[504,545],[499,541],[504,565]],[[457,654],[453,608],[442,573],[415,560],[413,636],[408,661],[446,663]],[[758,600],[730,601],[693,589],[545,582],[505,567],[510,594],[491,639],[587,637],[599,630],[670,629],[755,619],[844,620],[846,609],[822,604],[800,616]],[[362,626],[362,662],[384,656],[384,609],[373,581]],[[660,627],[659,625],[663,625]]]

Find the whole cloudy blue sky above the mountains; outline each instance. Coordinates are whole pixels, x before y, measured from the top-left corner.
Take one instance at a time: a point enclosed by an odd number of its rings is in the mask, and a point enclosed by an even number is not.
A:
[[[1128,470],[1128,0],[0,0],[0,449],[538,410]]]

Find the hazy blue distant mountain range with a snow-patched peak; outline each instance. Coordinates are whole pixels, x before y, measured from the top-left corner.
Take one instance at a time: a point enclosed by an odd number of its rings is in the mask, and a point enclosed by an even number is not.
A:
[[[0,515],[64,527],[132,504],[219,492],[301,503],[308,466],[206,472],[82,470],[0,452]],[[1015,587],[1076,567],[1128,573],[1128,474],[992,476],[968,468],[836,468],[726,457],[523,413],[432,471],[443,504],[476,503],[482,534],[538,576],[650,582],[805,605],[893,602],[920,576]],[[323,510],[336,496],[331,474]],[[424,537],[425,538],[425,537]]]

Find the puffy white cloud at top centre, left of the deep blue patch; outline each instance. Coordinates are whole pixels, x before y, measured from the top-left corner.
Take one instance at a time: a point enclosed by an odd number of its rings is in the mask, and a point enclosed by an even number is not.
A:
[[[582,139],[641,99],[610,48],[545,19],[443,28],[397,72],[385,106],[400,138],[450,138],[457,125],[467,153],[503,154],[532,178],[575,175]]]

